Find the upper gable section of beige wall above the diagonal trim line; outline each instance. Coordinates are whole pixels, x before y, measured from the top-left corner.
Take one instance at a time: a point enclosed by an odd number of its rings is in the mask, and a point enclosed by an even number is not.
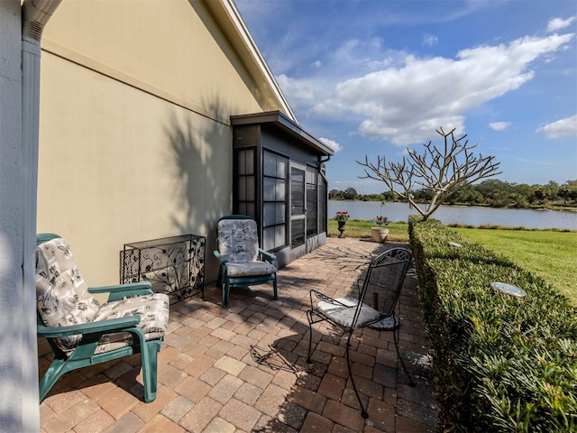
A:
[[[201,113],[215,101],[233,113],[270,108],[201,2],[63,2],[42,46]]]

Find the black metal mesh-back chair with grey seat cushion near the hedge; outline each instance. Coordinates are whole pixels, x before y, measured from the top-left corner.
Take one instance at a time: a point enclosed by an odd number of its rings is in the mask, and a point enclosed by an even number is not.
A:
[[[354,382],[349,356],[351,337],[355,330],[371,327],[380,331],[393,331],[398,359],[411,386],[414,386],[405,362],[398,351],[398,331],[395,332],[399,325],[398,319],[395,318],[395,306],[411,259],[412,254],[405,248],[391,248],[385,253],[381,253],[371,261],[365,277],[357,281],[358,296],[356,298],[333,299],[317,290],[310,290],[311,309],[307,311],[309,326],[307,362],[311,362],[314,324],[327,321],[340,327],[343,334],[348,333],[346,361],[353,389],[361,406],[362,418],[365,419],[369,415],[362,405],[361,396]]]

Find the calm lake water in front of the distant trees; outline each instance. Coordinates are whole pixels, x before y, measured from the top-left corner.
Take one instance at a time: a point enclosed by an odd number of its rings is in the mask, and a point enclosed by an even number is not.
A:
[[[421,205],[424,206],[424,205]],[[337,210],[346,210],[353,219],[371,220],[380,215],[379,201],[329,200],[328,215],[334,217]],[[407,203],[387,203],[382,216],[389,221],[408,221],[409,215],[417,215]],[[560,210],[504,209],[498,207],[441,206],[432,218],[443,224],[467,224],[471,226],[494,225],[527,228],[559,228],[577,230],[577,212]]]

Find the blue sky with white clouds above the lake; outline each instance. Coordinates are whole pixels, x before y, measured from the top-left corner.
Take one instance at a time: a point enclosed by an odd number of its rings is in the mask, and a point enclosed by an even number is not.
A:
[[[577,180],[574,0],[234,0],[298,123],[336,151],[329,189],[382,192],[356,160],[456,128],[496,179]]]

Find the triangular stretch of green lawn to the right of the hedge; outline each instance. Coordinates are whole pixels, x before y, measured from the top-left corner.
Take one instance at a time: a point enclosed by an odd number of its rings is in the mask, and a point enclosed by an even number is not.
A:
[[[453,230],[541,276],[577,306],[577,232],[480,228]]]

